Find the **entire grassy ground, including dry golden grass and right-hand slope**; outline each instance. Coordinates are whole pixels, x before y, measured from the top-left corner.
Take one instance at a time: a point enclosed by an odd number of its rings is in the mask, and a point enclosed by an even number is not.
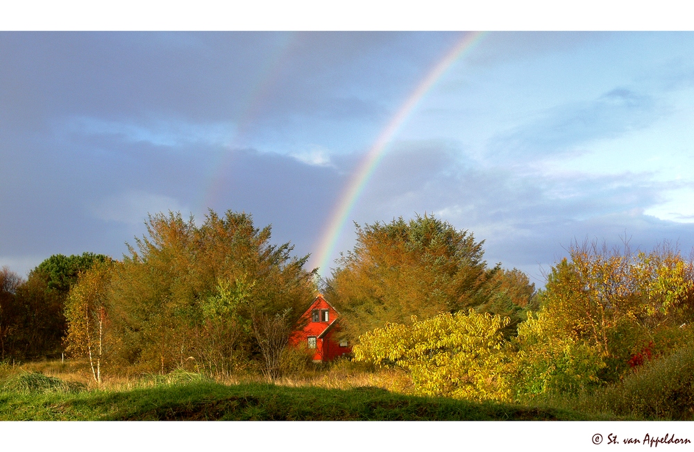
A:
[[[351,362],[278,384],[174,371],[96,385],[78,362],[0,363],[0,420],[691,420],[694,351],[591,394],[520,403],[408,395],[395,371]]]

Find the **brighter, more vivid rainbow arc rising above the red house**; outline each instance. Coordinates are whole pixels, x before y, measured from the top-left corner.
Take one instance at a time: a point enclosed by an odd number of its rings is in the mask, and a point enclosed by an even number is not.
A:
[[[403,126],[407,118],[412,114],[418,103],[425,95],[434,87],[441,76],[452,66],[452,64],[461,58],[466,51],[472,49],[477,42],[482,40],[486,32],[471,32],[465,33],[463,37],[455,44],[455,46],[446,53],[436,66],[427,74],[427,76],[417,85],[412,94],[407,97],[405,103],[398,109],[396,115],[387,124],[383,131],[378,135],[369,152],[359,163],[357,170],[349,179],[339,202],[332,211],[328,223],[323,229],[321,241],[319,242],[318,252],[316,253],[319,269],[328,267],[328,260],[335,251],[335,246],[342,231],[346,226],[350,212],[354,209],[359,197],[364,192],[366,184],[373,175],[373,172],[378,167],[385,155],[387,145],[393,140],[393,137],[398,133],[400,127]],[[327,276],[323,274],[323,276]]]

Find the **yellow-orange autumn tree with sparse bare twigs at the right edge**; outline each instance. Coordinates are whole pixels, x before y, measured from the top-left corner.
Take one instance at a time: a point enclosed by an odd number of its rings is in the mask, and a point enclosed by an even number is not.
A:
[[[552,267],[538,314],[518,326],[521,392],[614,382],[644,348],[668,353],[691,338],[694,268],[679,252],[585,242],[569,254]]]

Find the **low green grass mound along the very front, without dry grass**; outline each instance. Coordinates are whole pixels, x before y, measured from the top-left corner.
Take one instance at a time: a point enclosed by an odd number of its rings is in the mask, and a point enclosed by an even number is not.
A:
[[[393,394],[373,387],[330,390],[198,380],[133,390],[0,394],[2,420],[110,421],[491,421],[602,419],[555,408]]]

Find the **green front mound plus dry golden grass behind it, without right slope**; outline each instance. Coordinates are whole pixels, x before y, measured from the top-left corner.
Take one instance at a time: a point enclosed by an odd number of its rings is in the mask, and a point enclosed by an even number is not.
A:
[[[566,409],[398,394],[383,388],[398,383],[401,375],[363,370],[343,363],[278,385],[219,382],[178,370],[107,380],[97,387],[76,362],[33,362],[17,368],[0,364],[0,420],[604,419]]]

